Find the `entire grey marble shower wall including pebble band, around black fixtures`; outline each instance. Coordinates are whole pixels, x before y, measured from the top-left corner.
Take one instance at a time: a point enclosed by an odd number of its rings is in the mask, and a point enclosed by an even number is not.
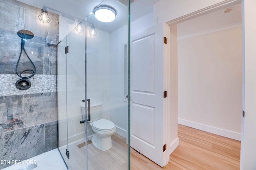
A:
[[[57,148],[56,47],[59,16],[48,13],[50,23],[38,19],[41,9],[16,0],[0,0],[0,160],[26,160]],[[29,78],[32,86],[18,90],[15,68],[21,38],[17,31],[27,29],[34,37],[24,49],[36,66]],[[31,69],[22,53],[18,71]],[[3,169],[9,164],[0,164]]]

